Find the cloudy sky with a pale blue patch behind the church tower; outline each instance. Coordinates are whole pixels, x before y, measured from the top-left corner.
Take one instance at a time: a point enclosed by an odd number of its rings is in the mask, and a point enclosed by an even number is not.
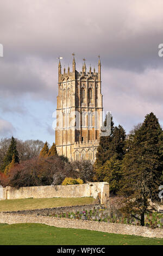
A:
[[[162,0],[1,0],[0,138],[52,144],[58,56],[102,64],[104,111],[126,132],[153,112],[163,126]]]

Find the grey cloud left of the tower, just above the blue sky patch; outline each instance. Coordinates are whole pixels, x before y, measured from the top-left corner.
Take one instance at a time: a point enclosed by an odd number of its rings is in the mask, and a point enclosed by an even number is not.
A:
[[[22,62],[0,64],[1,96],[30,94],[35,98],[52,97],[57,87],[54,84],[54,64],[44,63],[37,58],[26,58]]]

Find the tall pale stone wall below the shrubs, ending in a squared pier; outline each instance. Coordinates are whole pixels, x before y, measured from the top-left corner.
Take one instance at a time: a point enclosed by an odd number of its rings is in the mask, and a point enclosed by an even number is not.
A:
[[[21,198],[53,198],[53,197],[93,197],[101,199],[104,203],[109,197],[108,182],[90,182],[87,184],[67,186],[37,186],[37,187],[13,187],[0,188],[0,200]]]

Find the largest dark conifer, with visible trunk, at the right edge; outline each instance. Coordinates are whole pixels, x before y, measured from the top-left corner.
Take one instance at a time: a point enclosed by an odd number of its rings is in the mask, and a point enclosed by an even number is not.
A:
[[[135,131],[123,159],[121,195],[125,198],[123,212],[140,214],[144,225],[144,214],[149,210],[149,199],[158,199],[161,184],[163,159],[162,129],[153,113],[147,114],[142,126]]]

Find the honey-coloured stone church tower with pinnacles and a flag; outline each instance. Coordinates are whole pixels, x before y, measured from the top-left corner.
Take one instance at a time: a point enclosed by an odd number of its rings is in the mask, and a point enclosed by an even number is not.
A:
[[[68,66],[62,74],[58,65],[57,127],[55,144],[59,155],[65,155],[71,161],[96,160],[102,126],[103,101],[101,94],[101,61],[98,60],[98,72],[76,70],[73,54],[72,72]]]

